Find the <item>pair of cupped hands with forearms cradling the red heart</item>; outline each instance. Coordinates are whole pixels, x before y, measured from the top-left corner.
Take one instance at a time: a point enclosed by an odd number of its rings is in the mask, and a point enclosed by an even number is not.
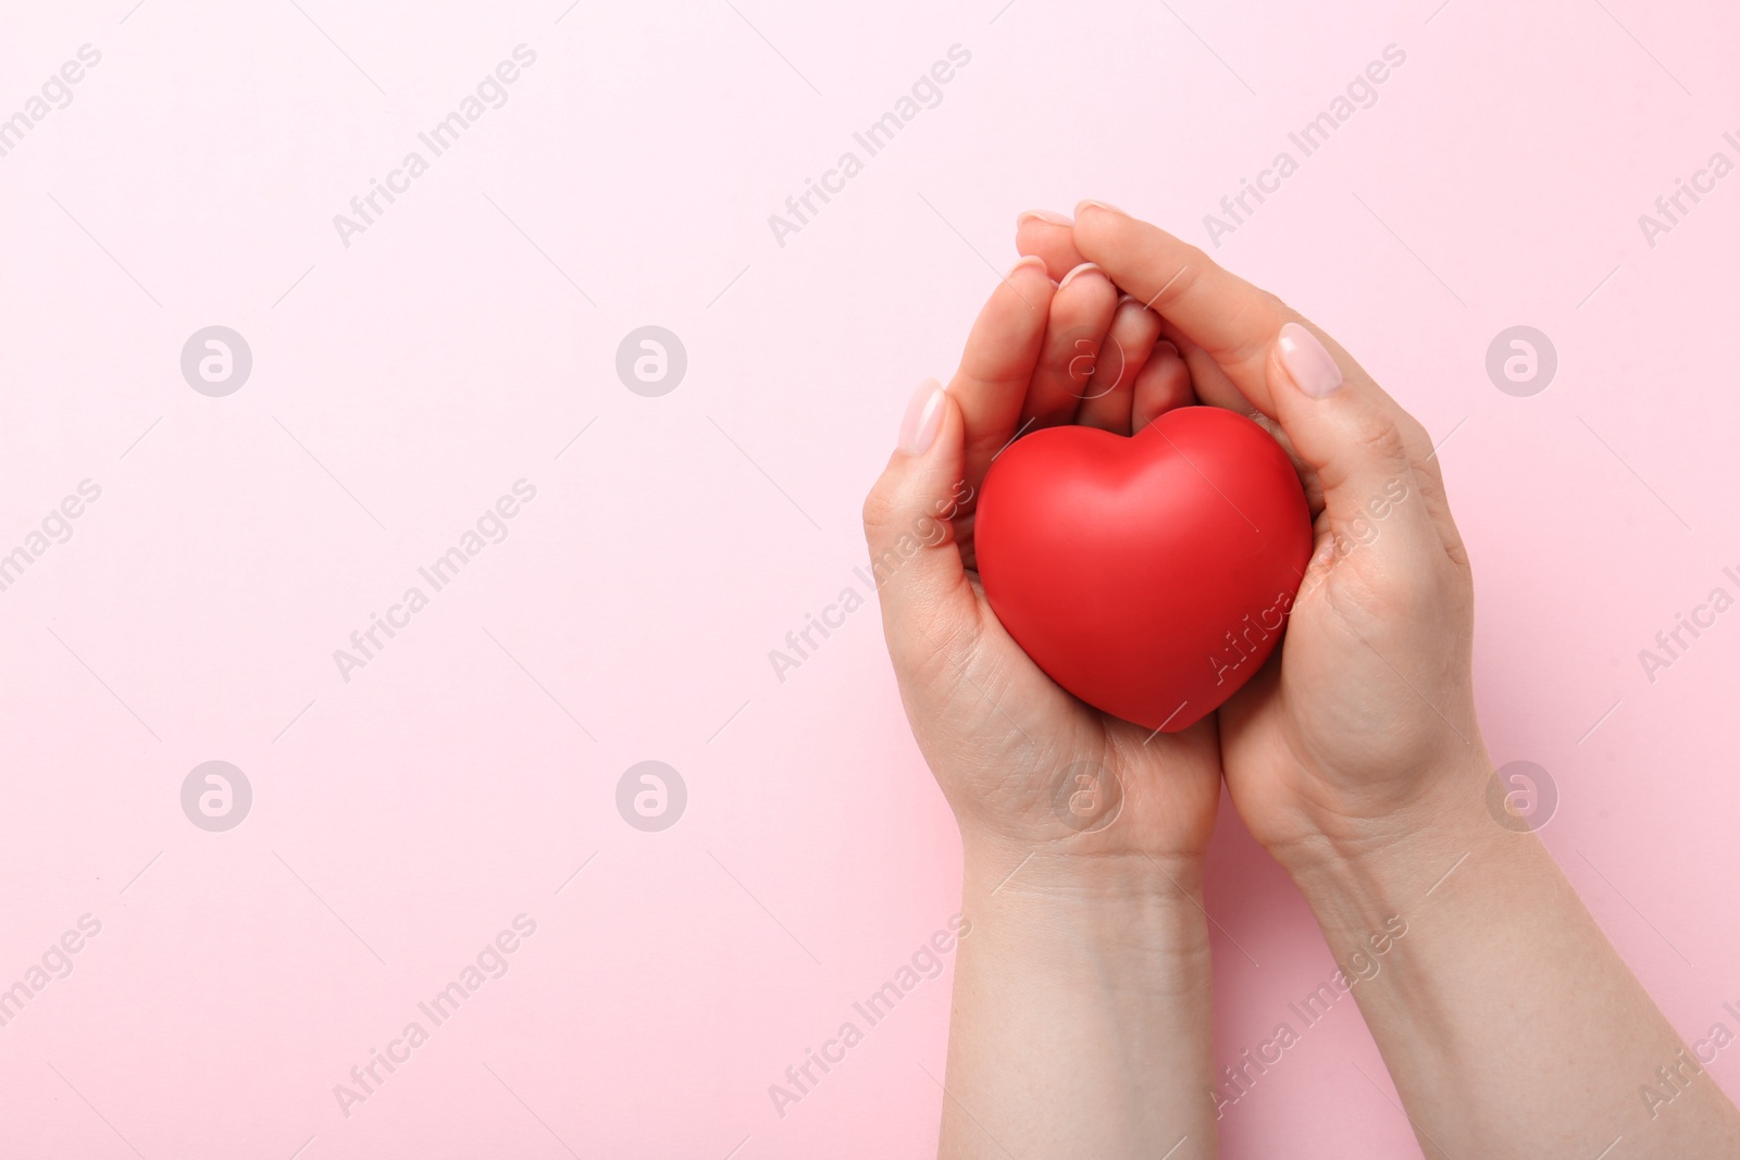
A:
[[[940,1155],[1159,1157],[1180,1136],[1174,1157],[1213,1155],[1194,908],[1223,776],[1336,960],[1382,965],[1352,993],[1423,1155],[1740,1157],[1733,1104],[1535,835],[1489,809],[1472,576],[1425,430],[1281,299],[1154,226],[1082,203],[1072,224],[1025,219],[1018,247],[1035,264],[980,317],[936,440],[896,452],[865,506],[873,555],[926,515],[952,532],[882,590],[914,732],[960,821],[974,923]],[[1098,271],[1053,290],[1084,261]],[[967,570],[971,499],[955,489],[976,487],[1023,417],[1067,421],[1054,379],[1028,395],[1091,306],[1058,299],[1100,277],[1159,320],[1159,339],[1128,417],[1122,391],[1091,374],[1070,417],[1131,430],[1187,402],[1255,414],[1293,456],[1317,532],[1282,649],[1215,718],[1147,746],[1000,631]],[[1128,310],[1107,327],[1154,325]],[[1338,390],[1314,398],[1293,381],[1286,323],[1329,351]],[[1124,795],[1088,833],[1054,809],[1079,760]],[[1394,1115],[1380,1092],[1368,1113]]]

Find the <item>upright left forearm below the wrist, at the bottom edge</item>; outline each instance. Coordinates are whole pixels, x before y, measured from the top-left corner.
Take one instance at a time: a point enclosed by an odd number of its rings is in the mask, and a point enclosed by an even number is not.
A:
[[[1201,870],[1021,857],[967,845],[940,1157],[1213,1157]]]

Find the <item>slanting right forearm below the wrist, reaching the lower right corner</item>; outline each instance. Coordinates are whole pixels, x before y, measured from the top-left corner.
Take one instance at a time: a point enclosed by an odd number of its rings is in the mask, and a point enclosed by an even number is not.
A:
[[[1481,798],[1295,880],[1348,977],[1369,972],[1354,997],[1427,1157],[1592,1158],[1616,1137],[1625,1157],[1740,1157],[1733,1104],[1540,840]],[[1387,920],[1406,932],[1380,955]]]

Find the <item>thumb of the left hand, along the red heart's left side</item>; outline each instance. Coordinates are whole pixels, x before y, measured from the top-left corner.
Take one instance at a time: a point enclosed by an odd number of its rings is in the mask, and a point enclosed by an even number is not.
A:
[[[959,656],[978,630],[954,520],[971,499],[962,482],[964,421],[936,379],[919,384],[900,426],[900,445],[865,499],[870,574],[882,600],[882,631],[894,668]]]

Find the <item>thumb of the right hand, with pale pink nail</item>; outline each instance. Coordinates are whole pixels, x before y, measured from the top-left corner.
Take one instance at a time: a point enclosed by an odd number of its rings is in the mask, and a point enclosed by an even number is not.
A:
[[[1368,543],[1380,523],[1436,539],[1425,504],[1406,503],[1420,490],[1411,419],[1335,339],[1288,322],[1268,350],[1267,377],[1275,421],[1315,473],[1338,541]]]

